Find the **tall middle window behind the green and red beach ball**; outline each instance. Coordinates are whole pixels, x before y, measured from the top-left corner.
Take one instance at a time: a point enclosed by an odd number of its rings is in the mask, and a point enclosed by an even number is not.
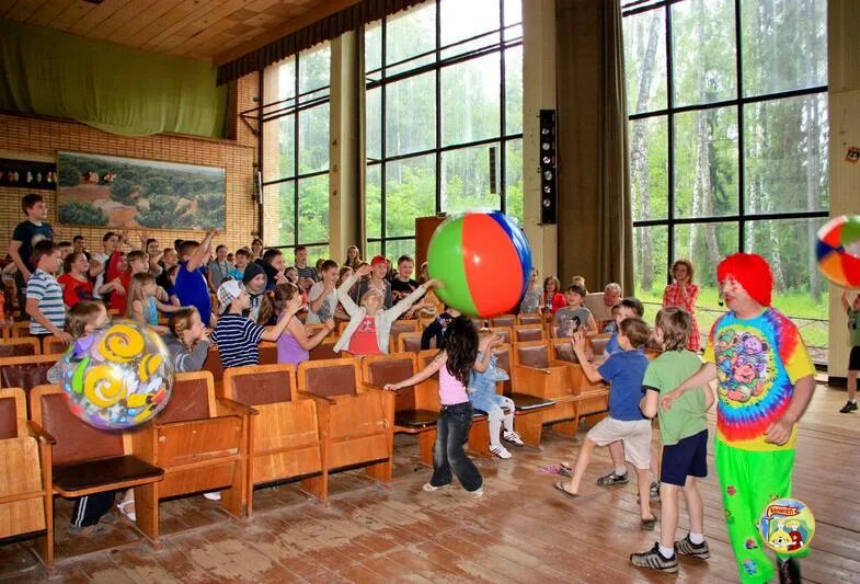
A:
[[[365,31],[365,255],[414,253],[415,217],[523,219],[520,0],[431,0]]]

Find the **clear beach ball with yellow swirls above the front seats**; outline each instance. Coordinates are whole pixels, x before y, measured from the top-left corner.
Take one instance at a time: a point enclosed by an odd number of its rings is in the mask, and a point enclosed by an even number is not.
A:
[[[151,420],[168,404],[173,387],[164,341],[130,320],[115,320],[73,342],[58,365],[71,412],[103,430]]]

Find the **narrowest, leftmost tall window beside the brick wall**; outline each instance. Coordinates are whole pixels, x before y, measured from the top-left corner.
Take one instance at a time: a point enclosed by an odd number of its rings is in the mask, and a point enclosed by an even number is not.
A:
[[[264,73],[263,231],[267,247],[329,256],[329,43]]]

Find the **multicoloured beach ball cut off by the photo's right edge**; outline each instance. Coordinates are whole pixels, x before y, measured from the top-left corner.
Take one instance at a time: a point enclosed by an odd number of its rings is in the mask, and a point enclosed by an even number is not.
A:
[[[818,229],[818,270],[837,286],[860,287],[860,215],[842,215]]]

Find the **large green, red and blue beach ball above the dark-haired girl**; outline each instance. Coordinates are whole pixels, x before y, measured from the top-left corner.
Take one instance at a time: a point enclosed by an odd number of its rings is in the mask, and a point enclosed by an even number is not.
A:
[[[512,312],[528,287],[531,249],[526,234],[498,211],[446,219],[427,249],[429,275],[445,284],[436,294],[471,317]]]

